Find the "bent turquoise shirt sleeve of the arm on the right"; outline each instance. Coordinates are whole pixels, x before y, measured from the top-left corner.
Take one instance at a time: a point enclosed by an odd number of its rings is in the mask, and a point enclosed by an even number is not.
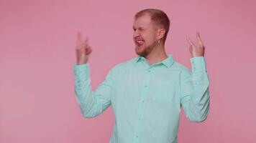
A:
[[[203,122],[209,113],[209,75],[204,56],[191,58],[191,70],[181,74],[181,106],[192,122]]]

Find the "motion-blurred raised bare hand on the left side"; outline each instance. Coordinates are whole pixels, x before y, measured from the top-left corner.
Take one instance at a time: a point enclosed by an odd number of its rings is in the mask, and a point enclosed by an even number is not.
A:
[[[78,32],[76,41],[77,64],[86,64],[91,51],[91,46],[88,45],[88,38],[83,40],[81,32]]]

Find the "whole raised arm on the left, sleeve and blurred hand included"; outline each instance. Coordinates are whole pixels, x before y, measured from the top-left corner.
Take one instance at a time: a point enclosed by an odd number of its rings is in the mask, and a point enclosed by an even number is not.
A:
[[[86,38],[83,41],[81,34],[78,33],[76,44],[77,64],[73,66],[73,72],[75,74],[76,99],[80,105],[81,113],[86,118],[96,117],[110,106],[111,88],[114,80],[114,69],[111,69],[104,82],[93,92],[88,64],[88,57],[91,51],[88,39]]]

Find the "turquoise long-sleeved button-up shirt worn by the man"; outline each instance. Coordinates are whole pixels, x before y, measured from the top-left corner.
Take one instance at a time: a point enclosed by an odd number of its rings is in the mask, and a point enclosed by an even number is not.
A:
[[[192,71],[173,55],[147,64],[143,56],[116,64],[93,91],[89,64],[73,65],[81,113],[93,118],[110,105],[115,122],[110,143],[178,142],[180,108],[192,122],[209,113],[209,76],[204,56],[191,58]]]

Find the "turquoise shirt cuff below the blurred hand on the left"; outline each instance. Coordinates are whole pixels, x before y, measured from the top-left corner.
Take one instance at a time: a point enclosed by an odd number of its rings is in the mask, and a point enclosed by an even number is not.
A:
[[[73,65],[73,72],[76,79],[88,80],[90,77],[89,64],[75,64]]]

